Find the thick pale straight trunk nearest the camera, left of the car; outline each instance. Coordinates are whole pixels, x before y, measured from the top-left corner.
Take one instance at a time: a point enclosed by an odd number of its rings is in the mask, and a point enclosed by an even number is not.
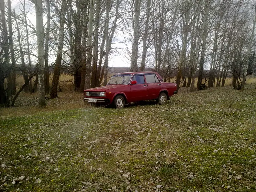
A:
[[[39,108],[46,107],[44,90],[44,23],[42,0],[34,0],[36,7],[36,36],[38,50]]]

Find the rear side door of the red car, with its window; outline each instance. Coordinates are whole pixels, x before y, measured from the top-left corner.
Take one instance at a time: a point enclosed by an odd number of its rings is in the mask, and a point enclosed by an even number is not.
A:
[[[162,89],[162,85],[159,79],[157,78],[156,74],[154,73],[145,74],[145,79],[148,86],[147,99],[151,100],[151,99],[158,98],[159,92]]]

